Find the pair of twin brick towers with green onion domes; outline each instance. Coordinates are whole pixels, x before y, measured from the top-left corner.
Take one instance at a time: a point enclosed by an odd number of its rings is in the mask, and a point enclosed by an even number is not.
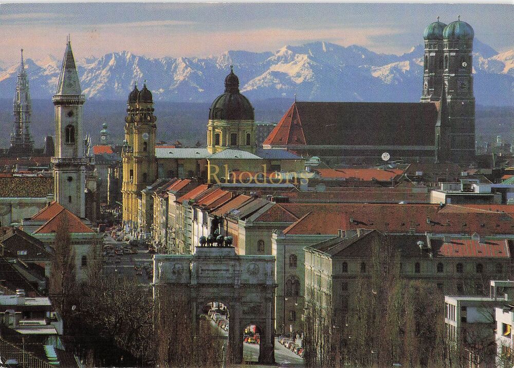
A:
[[[437,20],[424,32],[424,80],[421,102],[437,102],[437,161],[470,163],[475,158],[473,28],[458,20]]]

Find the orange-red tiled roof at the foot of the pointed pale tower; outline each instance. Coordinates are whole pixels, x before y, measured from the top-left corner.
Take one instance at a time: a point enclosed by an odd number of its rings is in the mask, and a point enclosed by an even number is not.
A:
[[[48,216],[52,215],[47,218]],[[50,206],[36,213],[33,220],[47,220],[35,234],[49,234],[62,230],[63,227],[69,233],[91,233],[93,229],[86,226],[79,217],[68,211],[60,204],[53,202]]]

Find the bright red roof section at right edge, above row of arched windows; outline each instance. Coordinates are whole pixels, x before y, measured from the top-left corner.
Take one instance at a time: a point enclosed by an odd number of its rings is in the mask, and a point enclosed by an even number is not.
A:
[[[452,239],[443,242],[438,255],[446,257],[510,258],[509,244],[504,240]]]

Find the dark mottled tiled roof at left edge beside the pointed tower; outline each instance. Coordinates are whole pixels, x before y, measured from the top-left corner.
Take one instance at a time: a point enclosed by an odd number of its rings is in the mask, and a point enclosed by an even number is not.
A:
[[[0,177],[0,197],[42,198],[53,194],[53,177]]]

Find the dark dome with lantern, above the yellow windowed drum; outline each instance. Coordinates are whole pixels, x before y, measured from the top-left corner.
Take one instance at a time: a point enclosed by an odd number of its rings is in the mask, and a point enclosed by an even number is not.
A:
[[[209,120],[254,120],[253,106],[239,91],[239,78],[232,66],[225,78],[225,93],[216,97],[209,109]]]

